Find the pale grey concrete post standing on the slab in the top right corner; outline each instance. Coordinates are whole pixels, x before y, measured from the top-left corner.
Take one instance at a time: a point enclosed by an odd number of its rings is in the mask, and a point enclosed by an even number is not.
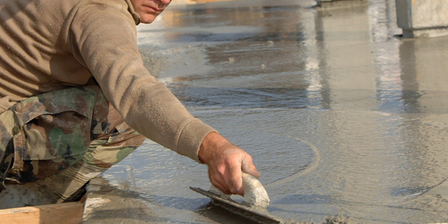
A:
[[[396,12],[405,38],[448,35],[447,0],[396,0]]]

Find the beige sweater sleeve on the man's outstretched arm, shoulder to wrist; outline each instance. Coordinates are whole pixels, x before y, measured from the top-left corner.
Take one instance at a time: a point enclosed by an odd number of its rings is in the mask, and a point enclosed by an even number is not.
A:
[[[144,67],[136,26],[125,8],[79,8],[71,41],[110,103],[132,128],[198,161],[198,149],[213,128],[187,112],[165,84]]]

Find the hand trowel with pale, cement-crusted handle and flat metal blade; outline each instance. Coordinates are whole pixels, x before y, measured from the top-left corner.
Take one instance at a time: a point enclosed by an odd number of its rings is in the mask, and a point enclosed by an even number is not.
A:
[[[250,218],[258,223],[283,223],[281,218],[272,216],[267,212],[269,196],[265,187],[250,174],[243,173],[244,200],[239,203],[232,200],[230,195],[224,194],[221,190],[212,185],[210,190],[202,190],[197,187],[190,187],[191,190],[212,198],[214,205],[219,205],[230,212]]]

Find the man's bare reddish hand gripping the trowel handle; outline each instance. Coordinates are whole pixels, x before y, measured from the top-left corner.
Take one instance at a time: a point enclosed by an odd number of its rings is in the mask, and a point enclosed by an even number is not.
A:
[[[205,136],[198,156],[208,166],[210,182],[225,194],[244,194],[242,172],[261,176],[252,156],[216,132]]]

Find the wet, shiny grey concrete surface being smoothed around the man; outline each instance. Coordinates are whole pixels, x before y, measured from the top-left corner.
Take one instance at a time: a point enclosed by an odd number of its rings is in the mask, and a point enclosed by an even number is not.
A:
[[[192,114],[252,154],[270,214],[448,222],[448,38],[401,39],[394,1],[314,5],[176,5],[138,27],[141,52]],[[103,178],[141,211],[125,223],[247,223],[189,189],[210,186],[204,165],[150,141]],[[114,210],[86,222],[122,222]]]

